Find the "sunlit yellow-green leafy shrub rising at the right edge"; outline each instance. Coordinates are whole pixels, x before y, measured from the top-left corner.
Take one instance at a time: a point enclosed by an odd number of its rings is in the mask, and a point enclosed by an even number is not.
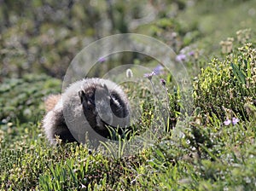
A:
[[[227,55],[224,61],[213,59],[201,70],[194,83],[195,106],[205,115],[218,118],[232,115],[248,119],[245,106],[256,106],[256,49],[252,43]]]

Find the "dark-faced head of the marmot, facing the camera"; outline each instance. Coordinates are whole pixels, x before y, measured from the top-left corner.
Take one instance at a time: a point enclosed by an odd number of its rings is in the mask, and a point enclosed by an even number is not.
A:
[[[85,90],[80,90],[79,97],[85,118],[91,128],[102,136],[108,136],[106,125],[113,128],[128,126],[129,108],[127,98],[122,98],[115,90],[108,90],[106,84],[97,84]]]

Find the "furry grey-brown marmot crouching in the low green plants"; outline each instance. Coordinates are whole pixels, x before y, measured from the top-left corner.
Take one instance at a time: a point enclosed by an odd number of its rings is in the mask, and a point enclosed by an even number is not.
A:
[[[49,96],[45,105],[48,113],[43,128],[52,144],[56,143],[56,136],[62,142],[84,142],[87,131],[88,136],[108,138],[106,125],[125,128],[130,123],[130,103],[125,92],[107,79],[79,80],[62,95]]]

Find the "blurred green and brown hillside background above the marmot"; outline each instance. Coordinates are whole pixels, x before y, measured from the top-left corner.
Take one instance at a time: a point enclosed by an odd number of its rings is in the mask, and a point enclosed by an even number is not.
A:
[[[249,0],[1,0],[0,82],[26,73],[62,79],[85,46],[125,32],[158,38],[177,54],[196,44],[211,57],[227,34],[255,25],[254,4]],[[147,61],[143,55],[121,54],[104,61],[105,67],[91,76],[101,76],[120,64]]]

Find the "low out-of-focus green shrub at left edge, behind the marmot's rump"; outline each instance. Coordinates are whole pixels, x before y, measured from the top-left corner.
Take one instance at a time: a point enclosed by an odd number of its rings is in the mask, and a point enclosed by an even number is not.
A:
[[[42,97],[61,92],[61,80],[46,75],[9,78],[0,85],[0,121],[37,121],[44,114]]]

